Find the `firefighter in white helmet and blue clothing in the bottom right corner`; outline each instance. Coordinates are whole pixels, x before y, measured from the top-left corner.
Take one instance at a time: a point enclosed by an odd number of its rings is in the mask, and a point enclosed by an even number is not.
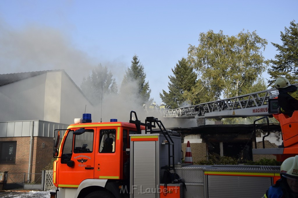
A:
[[[298,155],[283,161],[280,166],[280,179],[263,196],[263,198],[279,197],[298,197]]]

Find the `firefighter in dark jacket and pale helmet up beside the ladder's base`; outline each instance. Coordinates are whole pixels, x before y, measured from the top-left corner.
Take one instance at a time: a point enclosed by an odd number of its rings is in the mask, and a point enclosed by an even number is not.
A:
[[[278,112],[286,113],[292,116],[293,111],[298,110],[298,88],[291,85],[289,80],[279,77],[274,83],[274,87],[278,89]]]

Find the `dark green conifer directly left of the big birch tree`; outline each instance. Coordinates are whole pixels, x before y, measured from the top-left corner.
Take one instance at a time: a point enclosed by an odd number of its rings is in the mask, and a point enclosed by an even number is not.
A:
[[[159,96],[168,108],[176,109],[187,100],[183,94],[195,85],[197,75],[185,58],[178,61],[172,72],[174,76],[168,76],[170,79],[169,93],[162,90]],[[191,98],[190,101],[192,104],[198,104],[195,98]]]

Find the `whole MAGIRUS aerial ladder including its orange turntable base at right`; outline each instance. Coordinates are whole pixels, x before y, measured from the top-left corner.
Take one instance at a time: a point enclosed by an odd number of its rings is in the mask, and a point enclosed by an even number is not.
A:
[[[298,83],[293,85],[298,86]],[[165,118],[220,119],[264,116],[255,120],[255,122],[266,118],[268,123],[268,134],[263,136],[263,148],[257,148],[256,133],[254,129],[255,148],[252,149],[252,153],[273,154],[276,156],[277,161],[284,161],[286,158],[298,154],[298,111],[294,111],[291,117],[283,113],[277,113],[277,108],[279,107],[277,96],[278,90],[272,88],[242,96],[161,111],[160,113]],[[280,122],[283,144],[279,145],[278,148],[265,148],[265,137],[270,134],[268,116],[273,116]]]

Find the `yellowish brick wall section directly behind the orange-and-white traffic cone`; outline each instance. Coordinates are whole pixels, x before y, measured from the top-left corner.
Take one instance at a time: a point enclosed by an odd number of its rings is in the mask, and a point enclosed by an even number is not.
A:
[[[183,159],[185,157],[187,143],[182,143]],[[193,162],[198,162],[201,160],[206,160],[206,143],[190,143],[191,155],[193,157]]]

